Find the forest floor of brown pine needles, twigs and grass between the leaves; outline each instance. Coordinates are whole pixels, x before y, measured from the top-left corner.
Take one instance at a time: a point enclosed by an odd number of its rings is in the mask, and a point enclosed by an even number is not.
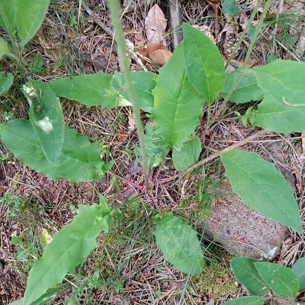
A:
[[[239,1],[235,15],[229,17],[230,10],[224,13],[220,1],[182,1],[181,19],[201,26],[227,59],[256,2]],[[155,4],[169,20],[165,0],[131,0],[122,6],[126,39],[135,46],[145,43],[145,18]],[[88,15],[88,8],[95,13],[94,18]],[[304,60],[304,16],[303,0],[273,1],[249,66],[266,64],[272,56]],[[253,28],[258,17],[253,21]],[[108,33],[98,24],[99,21],[110,29]],[[77,0],[52,0],[41,29],[23,53],[28,67],[35,59],[36,70],[32,75],[28,73],[28,77],[48,82],[68,75],[119,70],[110,34],[106,1],[90,0],[85,9]],[[232,62],[234,68],[242,65],[251,34],[249,31],[236,53]],[[170,24],[167,24],[163,38],[164,44],[173,50]],[[5,67],[6,64],[2,65]],[[150,61],[144,67],[153,72],[159,69]],[[131,69],[139,71],[143,66],[132,60]],[[140,192],[135,185],[144,183],[141,168],[134,167],[132,150],[137,136],[131,109],[88,108],[65,99],[61,99],[61,103],[65,124],[89,136],[101,147],[103,159],[113,160],[114,166],[102,181],[71,185],[62,180],[50,181],[16,160],[4,145],[0,146],[0,304],[9,304],[23,295],[34,261],[31,255],[13,245],[12,237],[22,236],[26,247],[31,245],[40,253],[43,249],[42,230],[54,234],[71,222],[78,204],[97,202],[99,193],[115,209],[114,224],[106,237],[99,238],[99,247],[69,278],[81,287],[81,304],[214,305],[245,295],[247,292],[230,269],[232,254],[217,243],[204,241],[206,267],[201,275],[188,277],[165,261],[151,234],[154,216],[162,210],[184,215],[200,237],[204,232],[202,220],[207,217],[210,205],[217,200],[217,189],[224,172],[221,164],[212,161],[186,177],[166,185],[157,184],[154,202],[141,198],[130,202],[130,196]],[[220,105],[221,100],[212,106],[212,117]],[[16,87],[12,94],[0,99],[0,123],[13,117],[24,118],[27,110],[28,105]],[[208,147],[220,149],[254,132],[253,128],[244,127],[237,116],[246,110],[243,105],[229,104],[226,113],[211,126],[207,125],[205,115],[200,118],[196,133],[204,148],[202,157],[210,154]],[[149,118],[142,113],[142,120],[149,121]],[[304,134],[285,137],[272,134],[260,137],[244,148],[258,152],[290,172],[304,222],[305,141],[302,136]],[[278,145],[277,156],[281,158],[270,153],[270,143]],[[173,174],[173,166],[165,161],[159,177]],[[289,231],[276,261],[291,266],[304,253],[304,236]],[[56,297],[53,304],[64,304],[74,287],[67,282],[61,289],[62,295]]]

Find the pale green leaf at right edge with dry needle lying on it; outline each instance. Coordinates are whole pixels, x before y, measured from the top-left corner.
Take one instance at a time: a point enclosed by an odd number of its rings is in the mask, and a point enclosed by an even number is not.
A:
[[[255,74],[258,85],[277,102],[292,107],[305,105],[305,63],[277,59],[248,71]]]

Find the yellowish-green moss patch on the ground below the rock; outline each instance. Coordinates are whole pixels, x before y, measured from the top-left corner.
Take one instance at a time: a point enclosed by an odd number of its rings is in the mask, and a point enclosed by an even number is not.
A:
[[[214,298],[237,294],[238,289],[234,282],[234,275],[225,262],[215,260],[207,262],[204,271],[192,278],[193,286],[197,292],[205,293]]]

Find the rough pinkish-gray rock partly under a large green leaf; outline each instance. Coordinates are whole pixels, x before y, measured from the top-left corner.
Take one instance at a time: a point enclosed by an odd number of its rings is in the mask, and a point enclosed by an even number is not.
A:
[[[285,240],[287,228],[248,207],[233,193],[219,196],[204,220],[205,235],[236,255],[273,259]]]

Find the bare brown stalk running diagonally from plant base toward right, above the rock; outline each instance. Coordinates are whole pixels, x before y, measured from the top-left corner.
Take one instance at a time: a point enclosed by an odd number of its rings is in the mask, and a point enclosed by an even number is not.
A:
[[[257,137],[260,137],[260,136],[266,134],[267,132],[268,132],[268,131],[265,130],[265,129],[264,129],[264,130],[260,130],[260,131],[258,131],[257,133],[255,133],[254,135],[252,135],[252,136],[250,136],[250,137],[248,137],[248,138],[246,138],[246,139],[244,139],[244,140],[241,140],[241,141],[239,141],[239,142],[237,142],[237,143],[235,143],[235,144],[232,144],[232,145],[226,147],[225,149],[220,150],[220,151],[219,151],[218,153],[216,153],[216,154],[213,154],[213,155],[211,155],[211,156],[209,156],[209,157],[206,157],[206,158],[202,159],[201,161],[197,162],[196,164],[194,164],[193,166],[191,166],[191,167],[188,168],[187,170],[182,171],[182,172],[180,172],[180,173],[178,173],[178,174],[176,174],[176,175],[174,175],[174,176],[171,176],[171,177],[168,177],[168,178],[165,178],[165,179],[161,180],[161,181],[159,182],[159,184],[165,184],[166,182],[169,182],[169,181],[171,181],[171,180],[174,180],[174,179],[176,179],[176,178],[178,178],[178,177],[180,177],[180,176],[184,176],[184,175],[190,173],[193,169],[195,169],[195,168],[197,168],[197,167],[199,167],[199,166],[201,166],[201,165],[203,165],[203,164],[205,164],[205,163],[207,163],[207,162],[209,162],[209,161],[211,161],[211,160],[213,160],[213,159],[215,159],[215,158],[218,158],[218,157],[222,156],[222,155],[225,154],[225,153],[228,153],[228,151],[230,151],[230,150],[232,150],[232,149],[234,149],[234,148],[237,148],[237,147],[240,147],[240,146],[242,146],[242,145],[245,145],[246,143],[248,143],[248,142],[254,140],[254,139],[257,138]]]

